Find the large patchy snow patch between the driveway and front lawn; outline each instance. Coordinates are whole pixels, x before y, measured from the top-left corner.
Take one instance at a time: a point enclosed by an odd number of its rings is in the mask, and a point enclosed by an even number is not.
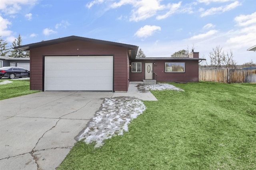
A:
[[[143,102],[137,98],[105,98],[102,109],[80,135],[79,141],[83,139],[87,144],[96,142],[94,147],[101,147],[104,139],[127,132],[128,123],[145,109]]]

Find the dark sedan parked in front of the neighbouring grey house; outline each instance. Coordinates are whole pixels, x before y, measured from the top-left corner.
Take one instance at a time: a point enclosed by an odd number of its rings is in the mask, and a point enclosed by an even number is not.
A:
[[[22,67],[2,67],[0,68],[0,78],[2,77],[29,77],[30,72]]]

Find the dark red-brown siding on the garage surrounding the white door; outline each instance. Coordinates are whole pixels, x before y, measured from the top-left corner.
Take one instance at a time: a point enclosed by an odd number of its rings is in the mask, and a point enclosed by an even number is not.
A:
[[[30,49],[30,90],[43,90],[43,59],[53,55],[113,55],[114,91],[127,91],[127,49],[112,45],[71,41]]]

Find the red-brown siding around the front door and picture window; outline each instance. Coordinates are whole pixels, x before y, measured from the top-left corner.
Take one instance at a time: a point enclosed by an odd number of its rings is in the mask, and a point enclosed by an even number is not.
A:
[[[153,72],[157,74],[158,82],[198,82],[198,61],[197,60],[136,60],[132,62],[142,63],[142,72],[130,72],[130,81],[142,81],[145,79],[145,63],[153,64]],[[164,72],[165,63],[185,63],[185,72]]]

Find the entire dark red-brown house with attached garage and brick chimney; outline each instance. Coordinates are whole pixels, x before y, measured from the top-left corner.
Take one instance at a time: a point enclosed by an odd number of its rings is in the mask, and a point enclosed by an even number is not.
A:
[[[127,92],[130,81],[153,79],[153,73],[162,82],[198,82],[198,61],[203,60],[198,53],[141,59],[136,58],[138,46],[77,36],[14,49],[30,51],[30,90],[42,91]]]

